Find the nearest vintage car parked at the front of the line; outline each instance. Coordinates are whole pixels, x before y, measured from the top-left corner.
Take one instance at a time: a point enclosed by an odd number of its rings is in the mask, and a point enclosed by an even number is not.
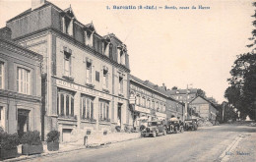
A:
[[[148,122],[146,128],[141,132],[142,136],[151,135],[153,137],[157,135],[166,135],[165,126],[162,121]]]

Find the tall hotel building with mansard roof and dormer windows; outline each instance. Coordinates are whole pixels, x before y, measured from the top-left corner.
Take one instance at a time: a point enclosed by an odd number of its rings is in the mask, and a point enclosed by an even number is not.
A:
[[[72,8],[43,2],[7,22],[12,38],[43,56],[42,136],[62,141],[87,131],[131,125],[128,109],[129,56],[113,33],[100,36],[93,24],[76,20]]]

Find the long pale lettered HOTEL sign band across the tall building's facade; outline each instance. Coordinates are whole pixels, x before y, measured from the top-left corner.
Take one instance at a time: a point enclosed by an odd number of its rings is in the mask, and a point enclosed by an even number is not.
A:
[[[89,94],[89,95],[93,95],[93,96],[99,96],[105,99],[111,99],[111,96],[109,94],[105,94],[103,92],[100,91],[96,91],[94,89],[76,84],[76,83],[72,83],[72,82],[68,82],[68,81],[62,81],[62,80],[57,80],[56,79],[56,84],[59,87],[63,87],[63,88],[67,88],[73,91],[80,91],[82,93],[85,94]]]

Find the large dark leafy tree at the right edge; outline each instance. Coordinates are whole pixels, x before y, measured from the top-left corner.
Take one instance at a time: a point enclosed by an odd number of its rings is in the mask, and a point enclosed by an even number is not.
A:
[[[256,2],[253,3],[256,7]],[[255,14],[252,16],[256,18]],[[256,20],[252,22],[252,25],[256,27]],[[253,120],[256,119],[256,54],[255,54],[255,40],[256,29],[252,30],[253,40],[252,44],[247,45],[249,48],[253,48],[251,52],[240,54],[234,61],[232,69],[230,71],[231,78],[228,79],[230,86],[225,90],[224,97],[235,108],[240,111],[241,117],[249,117]]]

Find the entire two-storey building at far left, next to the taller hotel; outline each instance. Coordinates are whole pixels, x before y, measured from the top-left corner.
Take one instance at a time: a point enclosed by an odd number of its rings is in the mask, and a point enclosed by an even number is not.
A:
[[[0,127],[22,136],[41,131],[42,56],[13,42],[11,33],[0,28]]]

